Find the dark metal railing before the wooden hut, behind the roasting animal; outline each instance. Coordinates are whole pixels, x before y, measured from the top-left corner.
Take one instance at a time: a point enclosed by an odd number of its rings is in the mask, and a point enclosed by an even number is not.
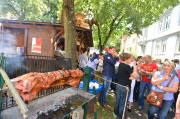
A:
[[[71,60],[61,57],[6,54],[6,67],[10,79],[29,72],[50,72],[71,69]]]

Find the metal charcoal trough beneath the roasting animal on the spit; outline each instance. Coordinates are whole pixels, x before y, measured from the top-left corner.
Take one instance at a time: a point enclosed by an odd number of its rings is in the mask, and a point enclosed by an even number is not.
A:
[[[28,104],[28,119],[64,118],[93,98],[92,94],[69,87]],[[12,117],[13,119],[23,119],[18,106],[7,108],[1,112],[1,119],[12,119]]]

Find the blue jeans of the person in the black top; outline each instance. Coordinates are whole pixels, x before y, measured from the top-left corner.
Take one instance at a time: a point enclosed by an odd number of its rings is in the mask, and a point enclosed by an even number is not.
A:
[[[130,91],[127,93],[126,88],[117,85],[117,96],[116,96],[116,103],[114,106],[114,113],[117,115],[118,119],[122,119],[123,110],[126,102],[126,96],[128,95]]]

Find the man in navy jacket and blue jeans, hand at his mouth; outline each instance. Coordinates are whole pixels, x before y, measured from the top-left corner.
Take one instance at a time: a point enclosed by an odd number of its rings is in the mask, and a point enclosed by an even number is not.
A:
[[[109,91],[110,84],[112,81],[112,77],[115,74],[115,64],[118,61],[117,53],[115,47],[110,47],[109,52],[107,52],[104,55],[104,61],[103,61],[103,72],[102,72],[102,77],[104,79],[103,82],[103,89],[101,91],[100,97],[99,97],[99,102],[101,106],[104,108],[110,108],[106,104],[106,95]]]

